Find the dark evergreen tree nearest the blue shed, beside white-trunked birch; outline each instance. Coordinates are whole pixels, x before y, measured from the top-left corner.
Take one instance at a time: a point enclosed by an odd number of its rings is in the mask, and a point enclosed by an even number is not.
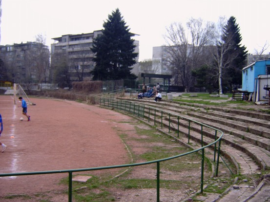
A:
[[[233,16],[228,19],[227,25],[224,27],[222,39],[225,43],[231,44],[231,48],[228,53],[226,53],[225,57],[233,58],[233,60],[231,60],[224,76],[226,83],[228,83],[229,88],[231,88],[233,84],[242,84],[242,69],[246,65],[248,53],[246,47],[241,45],[242,37],[240,28]]]

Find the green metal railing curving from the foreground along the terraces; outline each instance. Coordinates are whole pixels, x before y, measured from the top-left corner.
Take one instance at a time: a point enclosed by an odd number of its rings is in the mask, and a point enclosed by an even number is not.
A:
[[[68,173],[68,202],[72,202],[72,175],[74,172],[83,172],[83,171],[92,171],[92,170],[104,170],[104,169],[113,169],[113,168],[123,168],[123,167],[131,167],[131,166],[140,166],[140,165],[148,165],[148,164],[157,164],[157,202],[160,202],[160,163],[163,161],[168,161],[171,159],[179,158],[182,156],[186,156],[191,153],[199,152],[201,151],[202,155],[202,162],[201,162],[201,193],[203,193],[203,185],[204,185],[204,160],[205,160],[205,148],[211,147],[214,145],[214,161],[216,161],[216,168],[215,168],[215,175],[218,175],[218,166],[219,166],[219,154],[220,154],[220,147],[221,147],[221,138],[223,136],[223,132],[219,129],[215,129],[212,127],[209,127],[205,124],[199,123],[197,121],[187,119],[183,116],[179,116],[177,114],[169,113],[164,110],[157,110],[150,107],[145,107],[144,105],[135,104],[130,101],[122,101],[122,100],[115,100],[111,98],[105,98],[100,97],[99,103],[101,106],[104,107],[112,107],[116,110],[124,111],[125,113],[129,113],[135,117],[138,117],[140,119],[147,118],[147,121],[153,121],[154,124],[161,124],[161,128],[168,127],[173,128],[174,130],[177,129],[177,136],[179,137],[179,127],[180,127],[180,119],[183,119],[187,121],[188,124],[188,142],[189,142],[189,134],[191,123],[195,123],[199,126],[201,126],[201,147],[194,149],[192,151],[179,154],[176,156],[172,156],[165,159],[159,159],[155,161],[149,161],[149,162],[143,162],[143,163],[135,163],[135,164],[125,164],[125,165],[112,165],[112,166],[104,166],[104,167],[92,167],[92,168],[81,168],[81,169],[69,169],[69,170],[51,170],[51,171],[39,171],[39,172],[21,172],[21,173],[0,173],[0,177],[8,177],[8,176],[23,176],[23,175],[43,175],[43,174],[55,174],[55,173]],[[169,117],[169,118],[167,118]],[[176,117],[176,122],[173,117]],[[164,122],[168,123],[168,126],[164,124]],[[173,123],[177,123],[177,127],[173,126]],[[215,133],[215,141],[204,146],[203,142],[203,128],[208,128],[213,130]],[[219,137],[217,137],[217,133],[220,134]],[[218,146],[216,146],[218,144]],[[217,158],[216,158],[216,152],[217,152]]]

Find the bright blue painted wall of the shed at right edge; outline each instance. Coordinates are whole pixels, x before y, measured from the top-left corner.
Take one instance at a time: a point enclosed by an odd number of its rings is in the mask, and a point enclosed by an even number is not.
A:
[[[242,91],[254,92],[254,82],[258,75],[266,75],[266,66],[270,60],[256,61],[242,70]]]

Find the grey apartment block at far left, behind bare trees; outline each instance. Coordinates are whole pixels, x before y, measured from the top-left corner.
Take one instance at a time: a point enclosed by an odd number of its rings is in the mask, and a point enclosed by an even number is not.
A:
[[[0,46],[0,58],[8,70],[8,77],[15,83],[46,83],[49,81],[48,46],[27,42]]]

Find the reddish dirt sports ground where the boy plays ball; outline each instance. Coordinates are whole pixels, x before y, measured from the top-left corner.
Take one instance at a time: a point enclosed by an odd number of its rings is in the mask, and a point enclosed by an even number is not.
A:
[[[20,121],[23,117],[22,109],[17,107],[20,103],[17,101],[14,105],[13,96],[0,96],[3,118],[0,141],[7,145],[6,151],[0,153],[0,173],[128,163],[127,151],[117,130],[130,130],[132,126],[124,123],[130,117],[74,101],[31,98],[31,102],[36,104],[28,106],[31,121],[27,122],[25,116]],[[62,173],[1,177],[0,196],[67,190],[67,186],[59,185],[67,176]]]

